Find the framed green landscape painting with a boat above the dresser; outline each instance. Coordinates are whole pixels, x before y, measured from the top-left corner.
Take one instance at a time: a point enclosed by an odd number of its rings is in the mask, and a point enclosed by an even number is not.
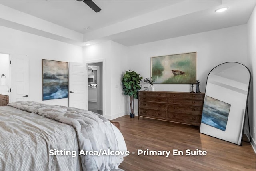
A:
[[[154,84],[195,84],[196,52],[151,58]]]

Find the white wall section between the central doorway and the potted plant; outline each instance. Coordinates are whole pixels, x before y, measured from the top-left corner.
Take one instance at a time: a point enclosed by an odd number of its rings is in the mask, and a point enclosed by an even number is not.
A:
[[[121,79],[127,68],[127,47],[113,41],[85,46],[83,58],[85,63],[103,61],[103,116],[115,119],[125,115]]]

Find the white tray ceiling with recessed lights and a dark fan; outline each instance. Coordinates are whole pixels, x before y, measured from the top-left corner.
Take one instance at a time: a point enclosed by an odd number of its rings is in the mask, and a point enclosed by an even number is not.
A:
[[[246,24],[255,0],[0,0],[0,25],[72,44],[125,46]],[[228,6],[223,13],[214,10]],[[88,28],[88,29],[86,29]]]

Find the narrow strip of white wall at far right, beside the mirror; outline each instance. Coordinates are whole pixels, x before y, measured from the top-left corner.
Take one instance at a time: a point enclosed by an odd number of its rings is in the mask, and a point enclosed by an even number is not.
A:
[[[248,68],[252,73],[251,87],[250,87],[250,96],[248,101],[248,112],[249,112],[249,120],[250,120],[250,133],[252,136],[252,146],[254,147],[254,151],[256,151],[256,135],[255,135],[255,126],[256,126],[256,8],[254,8],[250,19],[247,23],[247,31],[248,31]],[[247,135],[248,133],[248,129]]]

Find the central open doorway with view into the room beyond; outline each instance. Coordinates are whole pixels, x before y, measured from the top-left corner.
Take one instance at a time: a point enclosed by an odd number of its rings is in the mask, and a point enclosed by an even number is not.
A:
[[[88,63],[88,110],[103,115],[103,63]]]

